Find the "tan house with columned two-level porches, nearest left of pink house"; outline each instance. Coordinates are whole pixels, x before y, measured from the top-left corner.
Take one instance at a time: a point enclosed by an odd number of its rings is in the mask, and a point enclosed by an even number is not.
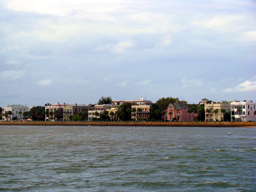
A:
[[[136,109],[136,112],[132,112],[132,119],[135,119],[136,121],[140,121],[142,119],[148,119],[149,118],[149,108],[150,105],[147,104],[141,104],[141,105],[132,105],[132,109]],[[141,108],[141,111],[137,111],[138,108]]]

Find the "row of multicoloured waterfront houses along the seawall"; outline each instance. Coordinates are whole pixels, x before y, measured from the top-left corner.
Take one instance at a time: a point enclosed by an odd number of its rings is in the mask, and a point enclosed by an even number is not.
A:
[[[228,102],[211,102],[207,103],[208,99],[202,99],[199,104],[204,104],[205,109],[205,121],[222,121],[224,120],[224,113],[222,112],[224,109],[225,112],[231,112],[231,117],[235,117],[235,121],[256,121],[256,115],[254,115],[255,111],[255,102],[252,102],[252,100],[243,102],[232,100]],[[47,112],[45,115],[45,121],[52,121],[55,120],[56,113],[55,111],[58,111],[58,114],[60,114],[61,118],[60,121],[67,122],[69,121],[70,116],[78,115],[79,112],[84,113],[85,111],[88,112],[88,119],[91,121],[93,118],[100,118],[100,114],[103,114],[104,111],[108,112],[109,118],[115,119],[116,116],[113,116],[113,114],[116,113],[118,110],[118,106],[123,103],[135,103],[135,105],[132,105],[132,113],[131,113],[131,119],[135,120],[142,120],[142,119],[148,119],[149,113],[150,113],[150,107],[152,106],[151,100],[146,100],[146,98],[140,97],[138,100],[113,100],[111,104],[104,104],[99,105],[99,103],[92,106],[91,104],[85,105],[85,104],[54,104],[50,106],[45,106],[45,111]],[[237,108],[242,108],[242,112],[237,112]],[[140,110],[138,110],[140,108]],[[22,115],[25,111],[29,111],[29,107],[27,105],[7,105],[6,107],[3,107],[3,121],[8,120],[5,119],[4,113],[6,111],[12,111],[12,116],[16,116],[17,119],[22,119]],[[188,106],[184,103],[180,102],[179,99],[176,99],[176,102],[169,104],[169,106],[165,110],[164,119],[171,121],[173,118],[175,118],[177,121],[194,121],[194,115],[192,113],[188,113]],[[214,111],[217,110],[217,113],[214,113]],[[208,111],[208,112],[206,112]],[[50,113],[52,112],[52,113]],[[111,113],[113,112],[113,113]],[[215,111],[216,112],[216,111]],[[111,115],[112,114],[112,115]],[[12,119],[12,118],[11,118]]]

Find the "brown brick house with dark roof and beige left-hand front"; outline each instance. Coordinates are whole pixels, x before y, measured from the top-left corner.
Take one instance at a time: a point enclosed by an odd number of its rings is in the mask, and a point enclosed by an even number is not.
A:
[[[61,118],[61,121],[69,121],[69,116],[75,116],[78,115],[79,112],[84,113],[85,111],[90,111],[93,110],[94,107],[92,107],[91,105],[85,105],[85,104],[80,104],[77,105],[77,103],[75,105],[73,104],[68,104],[65,105],[63,107],[63,118]]]

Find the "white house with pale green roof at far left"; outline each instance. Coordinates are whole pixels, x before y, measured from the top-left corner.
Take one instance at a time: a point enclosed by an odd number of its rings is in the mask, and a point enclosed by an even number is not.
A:
[[[12,120],[12,117],[17,117],[18,120],[22,120],[23,118],[23,113],[27,112],[29,109],[29,107],[27,107],[27,105],[6,105],[6,107],[3,107],[3,121],[8,121],[8,120]],[[11,119],[10,116],[6,119],[6,117],[4,116],[5,112],[8,111],[12,111],[12,115],[11,115]],[[19,114],[19,112],[21,111],[21,114]],[[21,117],[21,118],[20,118]]]

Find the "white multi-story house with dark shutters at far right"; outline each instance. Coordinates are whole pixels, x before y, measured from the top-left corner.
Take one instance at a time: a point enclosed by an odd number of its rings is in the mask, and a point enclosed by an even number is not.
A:
[[[235,117],[235,121],[240,121],[240,116],[241,116],[241,121],[247,122],[247,121],[256,121],[256,115],[254,115],[254,111],[256,103],[251,101],[246,101],[244,102],[233,102],[230,103],[231,105],[231,117]],[[241,108],[242,112],[239,114],[237,111],[237,108]]]

